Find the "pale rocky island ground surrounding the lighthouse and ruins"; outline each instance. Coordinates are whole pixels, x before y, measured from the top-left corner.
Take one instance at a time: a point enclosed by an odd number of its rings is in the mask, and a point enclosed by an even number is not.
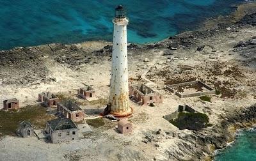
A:
[[[211,160],[214,150],[234,140],[237,129],[255,123],[256,3],[243,4],[236,13],[219,17],[214,23],[206,21],[198,31],[170,36],[157,43],[131,43],[128,50],[130,83],[145,82],[164,95],[164,103],[155,107],[140,107],[131,102],[132,134],[117,134],[116,124],[104,120],[103,127],[93,128],[92,134],[70,143],[49,145],[35,138],[7,136],[0,140],[0,158]],[[36,104],[37,94],[45,90],[70,95],[83,84],[92,84],[97,95],[107,99],[110,64],[108,42],[1,51],[0,98],[15,96],[25,106]],[[218,95],[211,96],[211,102],[197,97],[181,99],[164,88],[195,80],[214,87]],[[182,104],[207,114],[212,127],[179,130],[162,118]]]

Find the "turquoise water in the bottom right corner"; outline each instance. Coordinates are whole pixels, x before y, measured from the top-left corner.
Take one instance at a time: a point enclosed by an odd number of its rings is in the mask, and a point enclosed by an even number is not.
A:
[[[232,146],[221,151],[216,161],[253,161],[256,160],[256,128],[239,133]]]

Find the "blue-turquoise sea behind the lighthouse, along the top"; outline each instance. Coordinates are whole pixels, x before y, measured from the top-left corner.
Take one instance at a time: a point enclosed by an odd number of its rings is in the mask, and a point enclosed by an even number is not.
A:
[[[112,39],[114,9],[124,4],[129,42],[163,40],[226,15],[244,0],[0,0],[0,49]]]

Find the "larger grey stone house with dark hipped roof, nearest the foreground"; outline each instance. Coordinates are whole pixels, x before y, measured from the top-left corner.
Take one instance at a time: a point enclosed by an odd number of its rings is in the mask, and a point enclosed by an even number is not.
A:
[[[66,142],[78,139],[77,125],[68,118],[58,118],[47,121],[45,132],[52,143]]]

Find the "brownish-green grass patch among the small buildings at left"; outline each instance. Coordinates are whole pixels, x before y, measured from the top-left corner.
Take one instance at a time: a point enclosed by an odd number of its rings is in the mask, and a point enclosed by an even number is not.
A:
[[[21,121],[29,121],[35,129],[45,128],[47,121],[56,118],[46,113],[40,105],[28,105],[19,111],[0,111],[0,136],[15,135]]]

